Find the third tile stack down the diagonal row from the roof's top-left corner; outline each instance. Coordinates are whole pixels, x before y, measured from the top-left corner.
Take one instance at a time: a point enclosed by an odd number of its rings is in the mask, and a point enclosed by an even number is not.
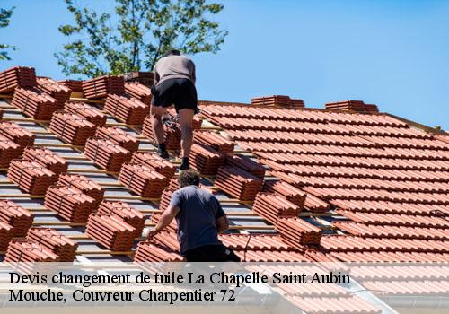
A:
[[[83,146],[95,134],[96,126],[74,113],[55,112],[49,128],[62,141]]]

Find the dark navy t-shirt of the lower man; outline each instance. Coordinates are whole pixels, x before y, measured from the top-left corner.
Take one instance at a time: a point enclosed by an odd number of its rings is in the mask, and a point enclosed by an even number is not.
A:
[[[224,216],[225,212],[216,196],[203,188],[189,186],[175,191],[170,205],[180,208],[176,222],[181,254],[189,249],[221,244],[216,219]]]

